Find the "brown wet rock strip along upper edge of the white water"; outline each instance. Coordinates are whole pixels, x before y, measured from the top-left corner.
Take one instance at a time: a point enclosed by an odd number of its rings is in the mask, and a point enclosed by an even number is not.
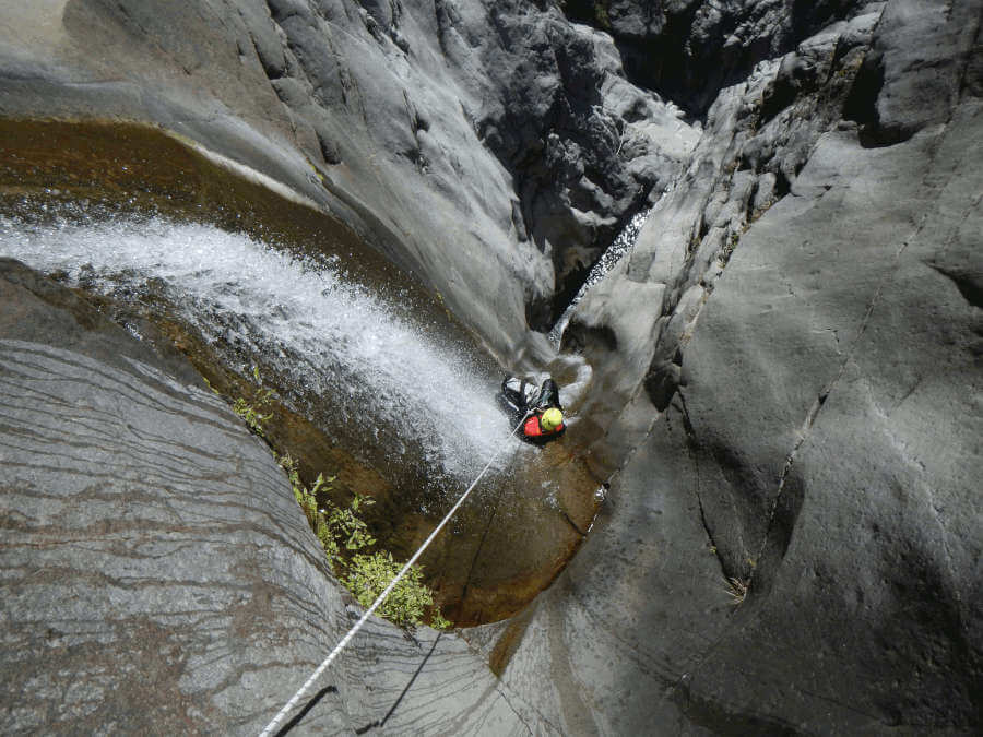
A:
[[[0,120],[0,202],[43,218],[159,214],[268,238],[291,250],[342,255],[353,277],[405,289],[426,312],[419,284],[400,274],[337,217],[271,192],[147,123],[115,120]]]

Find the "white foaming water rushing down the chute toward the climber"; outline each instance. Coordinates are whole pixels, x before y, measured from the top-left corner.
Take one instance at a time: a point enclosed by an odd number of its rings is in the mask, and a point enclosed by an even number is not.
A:
[[[0,253],[106,294],[140,293],[155,280],[208,340],[262,356],[292,383],[340,405],[355,435],[387,443],[391,455],[413,452],[400,442],[408,438],[429,467],[463,479],[502,443],[518,442],[494,382],[461,346],[423,334],[336,263],[163,218],[26,226],[0,217]]]

